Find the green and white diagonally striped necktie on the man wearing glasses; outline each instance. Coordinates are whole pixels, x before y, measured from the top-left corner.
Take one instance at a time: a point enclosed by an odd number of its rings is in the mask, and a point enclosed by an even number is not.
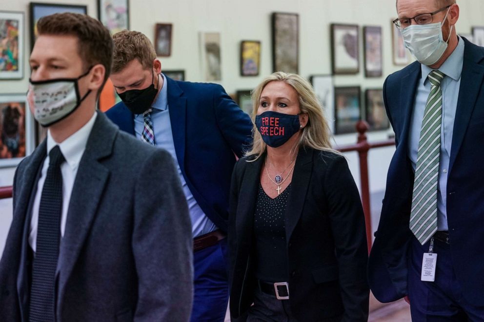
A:
[[[437,231],[437,186],[442,124],[440,84],[444,76],[440,71],[432,71],[428,75],[431,88],[423,114],[415,169],[410,230],[422,245]]]

